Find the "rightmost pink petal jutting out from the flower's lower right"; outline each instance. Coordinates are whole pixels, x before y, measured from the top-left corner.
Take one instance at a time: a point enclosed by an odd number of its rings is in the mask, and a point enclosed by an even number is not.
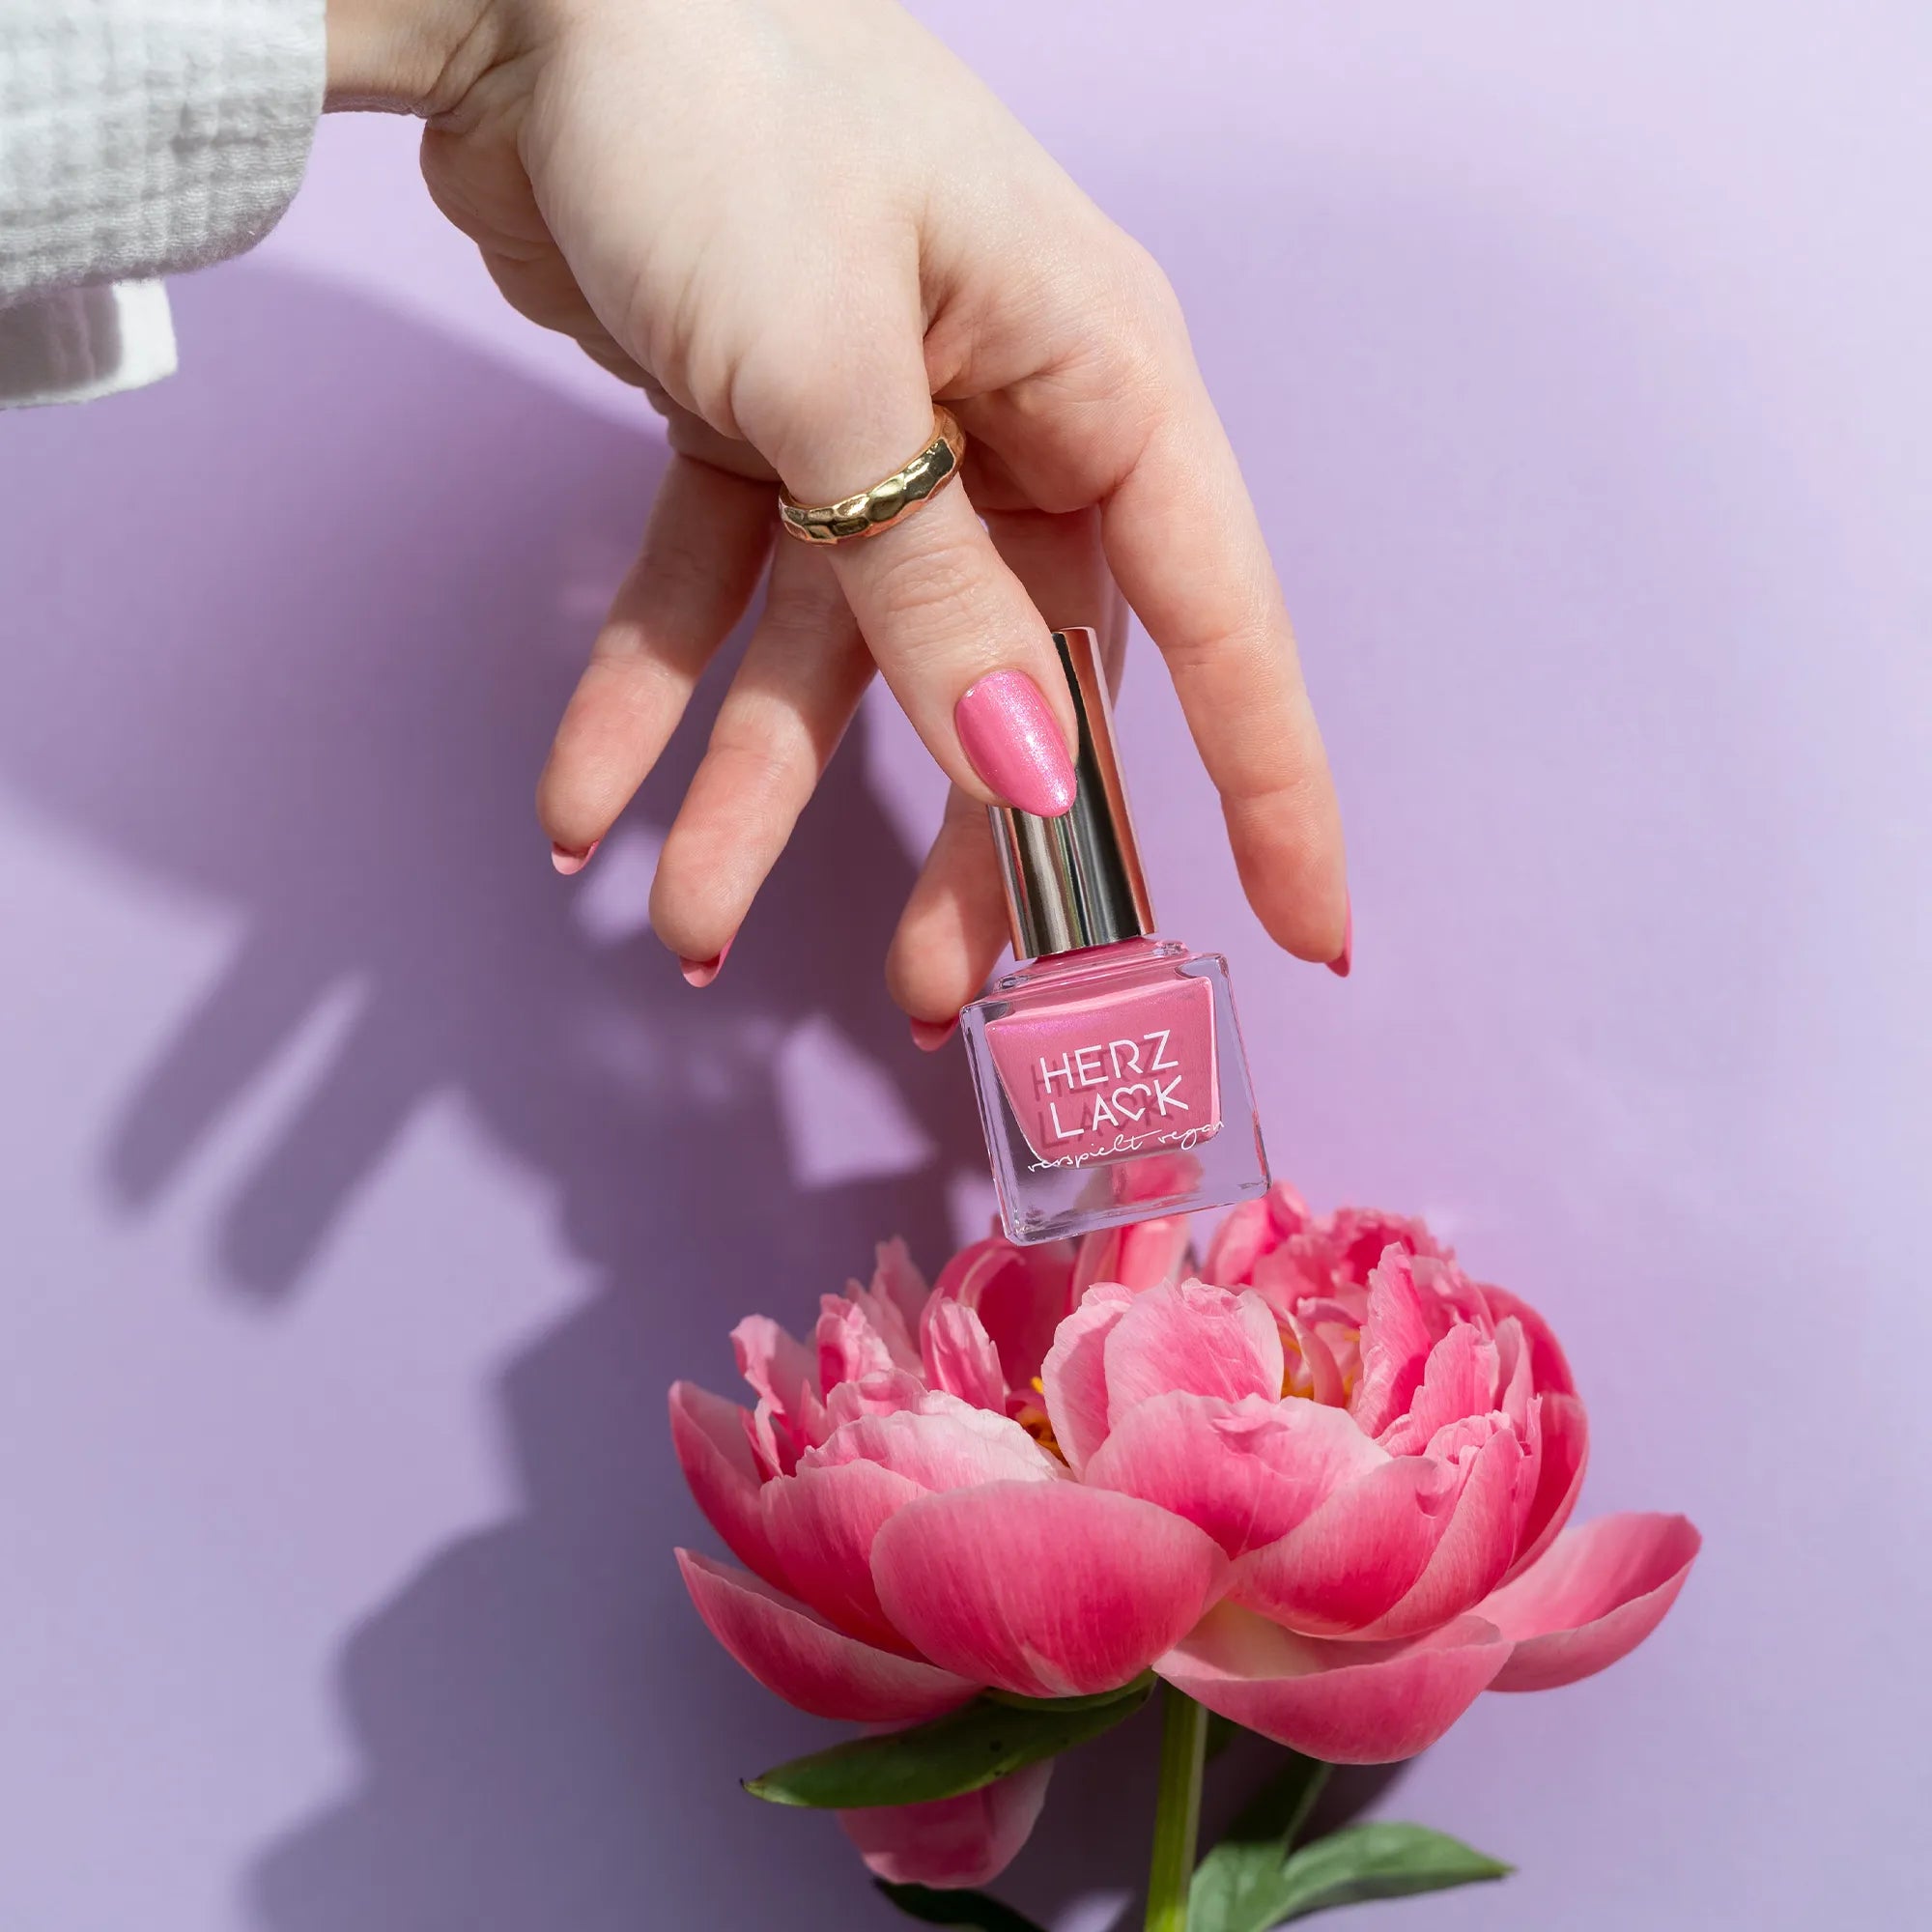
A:
[[[1478,1607],[1517,1650],[1497,1690],[1553,1690],[1629,1656],[1677,1602],[1704,1538],[1685,1517],[1598,1517]]]

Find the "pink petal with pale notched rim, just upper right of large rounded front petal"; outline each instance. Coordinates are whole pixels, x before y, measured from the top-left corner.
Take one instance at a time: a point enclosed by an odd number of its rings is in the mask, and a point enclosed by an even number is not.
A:
[[[1130,1408],[1086,1482],[1186,1517],[1238,1557],[1287,1536],[1333,1490],[1385,1461],[1339,1408],[1175,1393]]]

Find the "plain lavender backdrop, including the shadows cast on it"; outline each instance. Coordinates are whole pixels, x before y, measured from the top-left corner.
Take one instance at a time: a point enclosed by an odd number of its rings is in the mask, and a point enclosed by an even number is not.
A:
[[[1708,1536],[1385,1795],[1522,1874],[1350,1924],[1911,1922],[1932,17],[927,12],[1167,263],[1291,587],[1352,981],[1262,939],[1146,649],[1124,699],[1277,1171],[1544,1306],[1586,1513]],[[887,1926],[734,1789],[821,1731],[682,1602],[661,1403],[983,1208],[877,978],[937,788],[875,705],[701,997],[643,929],[690,746],[551,875],[659,454],[410,149],[328,126],[176,383],[0,423],[0,1924]],[[1148,1743],[1012,1874],[1057,1932]]]

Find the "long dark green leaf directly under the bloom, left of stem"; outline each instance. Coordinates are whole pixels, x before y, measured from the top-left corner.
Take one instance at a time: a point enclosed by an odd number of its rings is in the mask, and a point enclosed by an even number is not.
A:
[[[885,1737],[854,1737],[810,1758],[792,1758],[746,1783],[767,1804],[862,1810],[871,1804],[923,1804],[978,1791],[1026,1764],[1057,1758],[1132,1718],[1153,1679],[1132,1683],[1105,1704],[995,1704],[974,1698],[962,1710]]]

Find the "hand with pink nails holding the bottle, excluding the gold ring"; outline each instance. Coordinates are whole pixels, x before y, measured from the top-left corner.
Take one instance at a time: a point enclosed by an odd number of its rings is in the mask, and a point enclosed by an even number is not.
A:
[[[980,806],[1065,796],[1049,628],[1117,628],[1119,585],[1256,914],[1345,970],[1320,732],[1173,292],[893,0],[332,0],[330,104],[421,112],[429,189],[504,296],[668,419],[670,471],[537,792],[562,869],[657,761],[769,558],[653,925],[705,983],[877,665],[954,784],[889,960],[914,1032],[943,1026],[1005,943]],[[972,439],[962,483],[877,537],[773,554],[775,477],[802,502],[875,483],[927,442],[935,396]],[[1030,742],[1005,707],[960,705],[993,672],[1039,696]]]

